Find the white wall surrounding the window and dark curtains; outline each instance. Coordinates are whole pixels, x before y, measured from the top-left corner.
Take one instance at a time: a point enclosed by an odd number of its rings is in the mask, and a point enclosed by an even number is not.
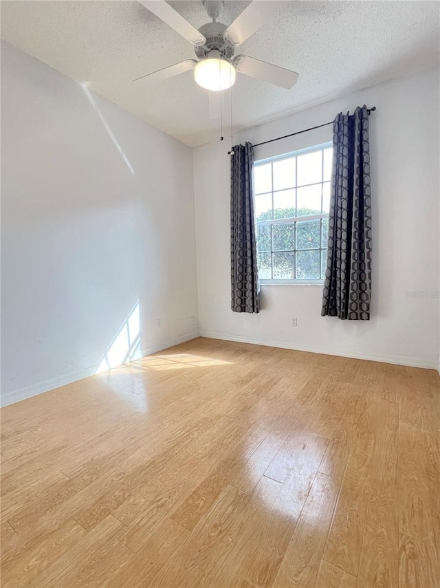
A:
[[[195,149],[199,325],[204,336],[437,367],[439,290],[439,72],[385,83],[243,131],[258,143],[376,106],[371,122],[373,307],[370,321],[320,316],[322,287],[261,287],[260,314],[230,310],[228,143]],[[331,140],[331,126],[257,147],[256,160]],[[291,317],[298,327],[291,327]]]

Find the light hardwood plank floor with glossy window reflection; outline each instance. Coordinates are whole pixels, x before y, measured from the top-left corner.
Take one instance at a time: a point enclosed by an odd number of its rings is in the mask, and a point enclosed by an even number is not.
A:
[[[1,411],[1,586],[439,588],[439,376],[199,338]]]

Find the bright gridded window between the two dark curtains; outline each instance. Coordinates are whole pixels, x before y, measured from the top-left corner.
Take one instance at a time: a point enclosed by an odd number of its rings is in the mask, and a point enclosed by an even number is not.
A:
[[[322,283],[327,263],[331,144],[254,164],[262,283]]]

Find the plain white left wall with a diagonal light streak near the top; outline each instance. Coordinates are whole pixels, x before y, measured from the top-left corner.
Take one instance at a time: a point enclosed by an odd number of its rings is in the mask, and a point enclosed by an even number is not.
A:
[[[192,150],[1,45],[3,404],[197,336]],[[160,318],[160,327],[157,327]]]

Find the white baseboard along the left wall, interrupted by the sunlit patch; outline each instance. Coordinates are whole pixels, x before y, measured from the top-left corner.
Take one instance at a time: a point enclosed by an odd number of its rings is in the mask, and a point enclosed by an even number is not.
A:
[[[190,341],[191,339],[196,339],[197,337],[199,337],[198,331],[192,334],[183,335],[160,345],[152,345],[151,347],[142,349],[142,355],[148,356],[151,355],[151,353],[157,353],[157,351],[168,349],[168,347],[174,347],[174,345],[179,345],[179,343],[184,343],[185,341]],[[65,386],[65,384],[72,384],[72,382],[83,380],[83,378],[87,378],[89,375],[93,375],[95,370],[96,365],[93,365],[85,369],[67,373],[66,375],[60,375],[57,378],[52,378],[51,380],[46,380],[45,382],[39,382],[39,384],[27,386],[26,388],[21,388],[19,390],[14,390],[8,394],[1,394],[0,406],[8,406],[9,404],[26,400],[26,398],[32,398],[32,396],[49,392],[54,388]]]

